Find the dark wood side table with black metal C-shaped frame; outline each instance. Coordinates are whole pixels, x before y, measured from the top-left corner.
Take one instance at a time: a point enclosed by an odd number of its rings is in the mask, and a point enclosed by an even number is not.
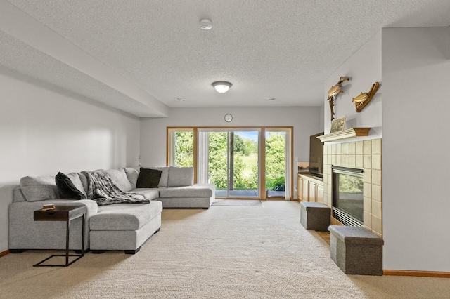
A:
[[[65,254],[53,254],[41,260],[41,262],[33,265],[33,267],[68,267],[75,263],[77,260],[84,256],[84,215],[86,214],[86,206],[55,206],[51,211],[34,211],[34,221],[65,221]],[[69,222],[70,220],[82,217],[82,253],[81,254],[69,254]],[[65,256],[65,264],[55,265],[46,264],[41,265],[46,260],[50,260],[55,256]],[[75,260],[69,263],[70,256],[77,256]]]

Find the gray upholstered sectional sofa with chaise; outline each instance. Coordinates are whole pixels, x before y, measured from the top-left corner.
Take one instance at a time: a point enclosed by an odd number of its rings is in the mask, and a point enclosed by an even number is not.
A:
[[[215,186],[193,184],[193,168],[160,167],[162,175],[155,188],[136,188],[139,168],[107,170],[111,180],[123,192],[141,194],[148,204],[98,205],[91,199],[60,199],[53,176],[24,177],[13,191],[9,206],[9,248],[13,253],[27,249],[64,249],[65,222],[34,221],[33,211],[44,204],[83,204],[87,208],[84,248],[93,253],[123,250],[136,253],[161,227],[162,208],[209,208]],[[82,193],[88,190],[83,173],[69,173],[73,185]],[[81,250],[82,219],[70,221],[72,250]]]

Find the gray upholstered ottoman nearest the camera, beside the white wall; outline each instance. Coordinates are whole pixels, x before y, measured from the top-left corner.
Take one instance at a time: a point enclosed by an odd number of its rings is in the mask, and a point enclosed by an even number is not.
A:
[[[364,227],[330,226],[331,259],[345,274],[383,275],[383,239]]]

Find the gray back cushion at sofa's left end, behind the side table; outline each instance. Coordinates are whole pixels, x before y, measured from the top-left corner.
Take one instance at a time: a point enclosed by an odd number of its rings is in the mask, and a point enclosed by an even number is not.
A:
[[[23,195],[27,201],[58,199],[58,187],[53,176],[25,176],[20,179]]]

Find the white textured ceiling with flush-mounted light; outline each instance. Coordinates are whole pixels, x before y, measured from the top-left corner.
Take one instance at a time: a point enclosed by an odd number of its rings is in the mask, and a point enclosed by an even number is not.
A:
[[[139,117],[322,105],[323,81],[381,28],[450,25],[449,0],[0,1],[0,18],[14,14],[0,65]],[[228,93],[211,86],[222,80]]]

